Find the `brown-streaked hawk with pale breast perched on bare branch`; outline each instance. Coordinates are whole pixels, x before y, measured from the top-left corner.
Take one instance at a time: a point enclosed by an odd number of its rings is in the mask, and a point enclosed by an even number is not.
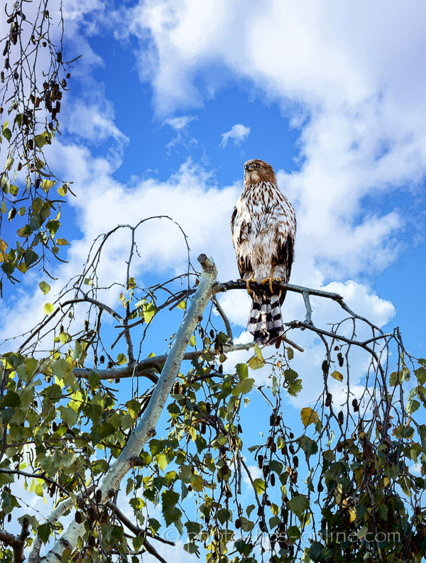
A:
[[[231,230],[239,273],[253,300],[247,329],[254,341],[269,344],[284,332],[281,305],[285,290],[274,293],[272,283],[288,283],[290,278],[296,217],[278,188],[272,166],[263,160],[244,164],[244,192],[232,214]],[[250,282],[265,287],[253,291]]]

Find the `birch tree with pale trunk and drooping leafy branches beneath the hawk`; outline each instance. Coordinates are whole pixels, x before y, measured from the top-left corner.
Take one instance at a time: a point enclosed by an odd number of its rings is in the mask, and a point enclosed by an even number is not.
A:
[[[173,562],[179,538],[188,559],[209,563],[420,562],[426,360],[340,295],[279,282],[305,315],[285,323],[275,347],[234,344],[218,297],[245,282],[218,279],[201,255],[142,287],[133,273],[143,223],[99,237],[45,319],[1,356],[1,559]],[[123,233],[124,280],[111,273],[105,285],[107,241]],[[114,306],[105,296],[117,287]],[[315,324],[321,301],[342,319]],[[170,329],[165,354],[148,344],[155,323]],[[308,358],[321,393],[290,424],[306,331],[323,346],[319,363]],[[241,349],[247,361],[229,368]],[[351,379],[359,350],[361,393]],[[31,509],[38,497],[49,513]]]

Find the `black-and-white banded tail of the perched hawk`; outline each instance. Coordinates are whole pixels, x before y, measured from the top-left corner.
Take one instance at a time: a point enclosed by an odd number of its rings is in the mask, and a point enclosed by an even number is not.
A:
[[[285,295],[285,294],[284,294]],[[262,291],[253,296],[253,305],[247,330],[253,334],[258,344],[269,344],[284,332],[283,317],[281,317],[281,303],[284,295]]]

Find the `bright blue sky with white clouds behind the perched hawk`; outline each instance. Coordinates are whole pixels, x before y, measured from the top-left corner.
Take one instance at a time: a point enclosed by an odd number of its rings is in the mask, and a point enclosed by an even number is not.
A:
[[[193,259],[209,253],[221,280],[236,278],[229,219],[244,161],[263,158],[296,208],[293,282],[342,293],[381,326],[399,325],[410,351],[425,356],[426,7],[419,0],[75,0],[65,9],[70,58],[83,57],[50,158],[77,198],[62,213],[69,263],[56,270],[52,293],[78,271],[94,236],[158,213],[182,224]],[[221,147],[238,124],[246,133]],[[176,231],[156,224],[143,232],[138,279],[182,271]],[[123,239],[111,248],[105,279],[120,271],[123,248]],[[3,335],[43,316],[38,281],[28,275],[9,293]],[[236,337],[246,339],[249,300],[239,293],[222,302]],[[318,304],[314,314],[325,324],[339,312]],[[302,315],[289,296],[285,320]],[[157,330],[151,345],[160,354],[165,332]],[[320,348],[306,334],[294,339],[308,351],[296,366],[314,382],[291,402],[298,420],[320,390]],[[356,369],[361,388],[362,362]]]

